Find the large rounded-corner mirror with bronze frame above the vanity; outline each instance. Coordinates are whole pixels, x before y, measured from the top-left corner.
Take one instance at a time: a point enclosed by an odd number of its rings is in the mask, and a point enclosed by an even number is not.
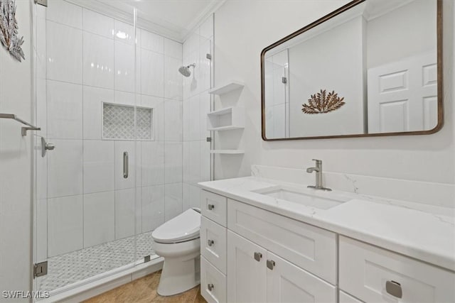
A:
[[[441,0],[351,1],[264,48],[262,138],[439,131],[441,11]]]

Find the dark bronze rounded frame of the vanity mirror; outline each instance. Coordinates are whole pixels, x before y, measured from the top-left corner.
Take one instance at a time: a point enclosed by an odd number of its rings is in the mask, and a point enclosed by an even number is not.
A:
[[[338,16],[343,11],[351,9],[353,6],[356,6],[366,0],[353,0],[348,4],[341,6],[339,9],[328,13],[326,16],[319,18],[318,20],[310,23],[308,26],[287,35],[286,37],[278,40],[272,45],[267,46],[261,52],[261,128],[262,128],[262,140],[263,141],[289,141],[289,140],[310,140],[310,139],[330,139],[330,138],[359,138],[359,137],[379,137],[379,136],[413,136],[413,135],[429,135],[432,133],[437,133],[440,131],[442,126],[444,126],[444,98],[443,98],[443,77],[442,77],[442,0],[437,1],[437,92],[438,92],[438,123],[433,129],[428,131],[403,131],[403,132],[394,132],[394,133],[364,133],[364,134],[355,134],[355,135],[337,135],[337,136],[314,136],[314,137],[294,137],[294,138],[267,138],[265,136],[265,87],[264,87],[264,61],[265,53],[272,48],[290,40],[301,33],[309,31],[311,28],[318,26],[319,24],[328,21],[329,19]]]

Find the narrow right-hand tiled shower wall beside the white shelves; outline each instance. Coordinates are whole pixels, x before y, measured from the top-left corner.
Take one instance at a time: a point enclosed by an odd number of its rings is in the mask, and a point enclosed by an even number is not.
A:
[[[212,60],[207,54],[212,55]],[[183,78],[183,210],[200,207],[198,182],[210,180],[210,143],[207,113],[213,71],[213,15],[183,43],[183,65],[196,63]]]

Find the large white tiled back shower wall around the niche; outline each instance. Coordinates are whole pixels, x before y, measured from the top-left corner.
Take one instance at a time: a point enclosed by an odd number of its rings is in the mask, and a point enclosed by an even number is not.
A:
[[[37,158],[38,260],[180,214],[181,43],[138,29],[135,47],[133,26],[66,1],[40,8],[37,27],[37,118],[56,146]],[[102,101],[153,107],[154,141],[102,140]]]

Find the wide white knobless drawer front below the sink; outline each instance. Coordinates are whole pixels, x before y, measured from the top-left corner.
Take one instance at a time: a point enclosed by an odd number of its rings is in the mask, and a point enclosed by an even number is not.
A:
[[[336,285],[336,234],[229,199],[228,228]]]

